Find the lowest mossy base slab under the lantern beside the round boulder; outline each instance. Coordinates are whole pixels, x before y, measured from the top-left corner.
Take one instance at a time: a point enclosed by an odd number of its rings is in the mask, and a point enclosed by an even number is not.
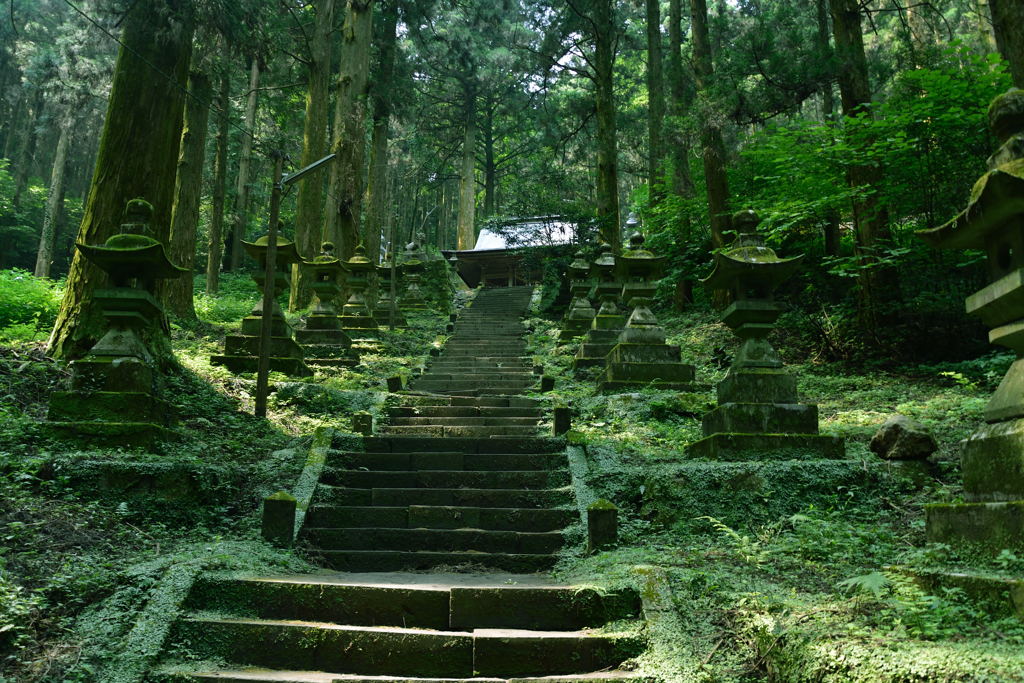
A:
[[[839,436],[820,434],[712,434],[687,450],[700,460],[842,460],[846,445]]]

